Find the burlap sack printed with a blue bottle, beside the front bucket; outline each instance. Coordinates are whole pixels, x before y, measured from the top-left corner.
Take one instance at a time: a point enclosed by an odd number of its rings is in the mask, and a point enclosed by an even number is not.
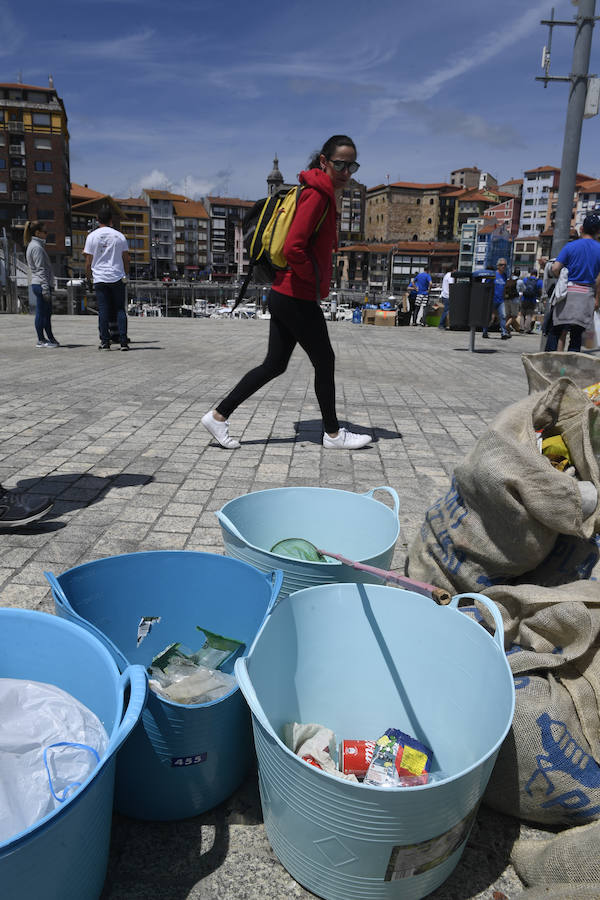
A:
[[[546,824],[600,817],[600,587],[503,585],[487,591],[502,614],[515,675],[515,715],[485,802]],[[485,615],[485,607],[481,607]]]

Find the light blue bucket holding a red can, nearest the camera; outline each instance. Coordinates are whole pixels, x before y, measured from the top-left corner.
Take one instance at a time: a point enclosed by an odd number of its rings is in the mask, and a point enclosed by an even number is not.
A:
[[[459,612],[462,597],[488,607],[493,637]],[[487,597],[436,606],[380,585],[299,591],[235,672],[252,710],[267,835],[297,881],[326,900],[413,900],[448,877],[514,710],[502,620]],[[324,725],[336,741],[400,728],[431,747],[439,780],[343,781],[283,744],[287,722]]]

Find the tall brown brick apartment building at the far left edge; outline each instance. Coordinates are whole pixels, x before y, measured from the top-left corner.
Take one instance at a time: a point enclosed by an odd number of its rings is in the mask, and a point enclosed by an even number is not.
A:
[[[52,78],[47,86],[0,83],[0,228],[22,243],[28,219],[48,226],[57,276],[71,256],[69,131]]]

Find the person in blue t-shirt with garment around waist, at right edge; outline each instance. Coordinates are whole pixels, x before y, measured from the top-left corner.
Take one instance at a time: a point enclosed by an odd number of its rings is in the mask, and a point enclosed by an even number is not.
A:
[[[591,213],[583,220],[579,240],[562,248],[552,265],[556,277],[566,266],[567,296],[552,310],[552,328],[546,341],[546,351],[563,349],[567,334],[569,350],[581,350],[581,338],[594,322],[594,310],[600,298],[600,215]]]

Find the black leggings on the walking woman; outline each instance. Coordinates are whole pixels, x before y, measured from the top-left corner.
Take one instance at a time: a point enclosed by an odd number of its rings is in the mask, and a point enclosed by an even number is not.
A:
[[[271,290],[268,299],[271,323],[269,346],[264,362],[251,369],[217,406],[226,419],[237,407],[273,378],[283,375],[296,344],[300,344],[315,370],[315,394],[323,417],[323,428],[335,433],[339,423],[335,413],[335,354],[320,305],[314,300],[297,300]]]

